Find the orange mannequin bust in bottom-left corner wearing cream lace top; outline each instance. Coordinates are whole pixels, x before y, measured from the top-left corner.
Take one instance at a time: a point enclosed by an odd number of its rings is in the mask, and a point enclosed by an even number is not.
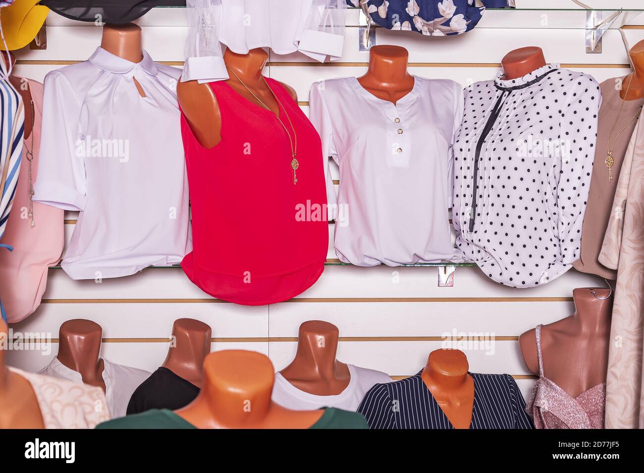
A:
[[[43,415],[32,385],[5,365],[8,328],[0,319],[0,429],[44,429]]]

